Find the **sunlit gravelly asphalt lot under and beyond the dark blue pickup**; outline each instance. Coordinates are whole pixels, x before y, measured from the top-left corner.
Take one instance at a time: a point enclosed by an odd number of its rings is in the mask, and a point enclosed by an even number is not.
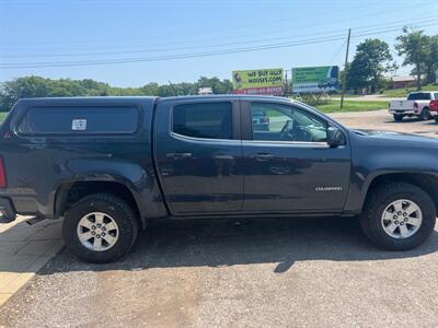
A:
[[[346,126],[437,137],[385,110]],[[422,247],[382,251],[354,219],[152,222],[136,250],[88,265],[62,250],[0,308],[11,327],[437,327],[438,225]]]

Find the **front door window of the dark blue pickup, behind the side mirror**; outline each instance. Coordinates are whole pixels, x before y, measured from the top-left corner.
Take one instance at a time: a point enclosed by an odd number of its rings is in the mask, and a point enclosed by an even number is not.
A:
[[[252,103],[253,140],[325,142],[327,124],[293,106]]]

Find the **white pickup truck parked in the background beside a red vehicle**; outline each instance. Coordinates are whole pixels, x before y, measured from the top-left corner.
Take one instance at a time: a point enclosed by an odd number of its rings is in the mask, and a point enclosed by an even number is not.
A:
[[[438,122],[438,91],[412,92],[406,101],[392,101],[390,114],[395,121],[402,121],[405,116],[418,116],[423,120],[435,118]]]

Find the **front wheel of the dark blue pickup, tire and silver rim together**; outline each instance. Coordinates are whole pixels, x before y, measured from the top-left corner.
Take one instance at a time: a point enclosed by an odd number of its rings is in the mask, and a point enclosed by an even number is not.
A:
[[[372,190],[365,204],[360,224],[378,246],[407,250],[422,245],[436,222],[435,203],[422,188],[392,183]]]

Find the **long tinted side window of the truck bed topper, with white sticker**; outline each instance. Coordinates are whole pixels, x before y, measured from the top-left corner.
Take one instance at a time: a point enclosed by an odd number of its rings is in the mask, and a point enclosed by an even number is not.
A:
[[[19,126],[23,134],[134,133],[139,110],[134,106],[33,107]]]

